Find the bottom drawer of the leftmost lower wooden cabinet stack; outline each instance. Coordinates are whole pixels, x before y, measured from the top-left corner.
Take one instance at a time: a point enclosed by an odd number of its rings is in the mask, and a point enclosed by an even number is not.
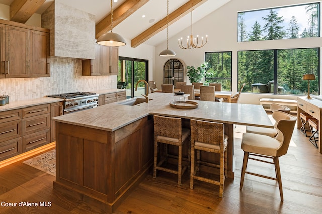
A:
[[[21,153],[21,137],[0,143],[0,161]]]

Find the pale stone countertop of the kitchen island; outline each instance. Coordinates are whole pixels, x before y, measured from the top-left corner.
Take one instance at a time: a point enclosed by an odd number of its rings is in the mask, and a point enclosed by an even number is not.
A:
[[[196,100],[199,104],[196,109],[176,109],[169,105],[173,99],[173,94],[171,93],[152,93],[149,94],[149,98],[152,99],[149,103],[144,102],[129,106],[120,104],[125,102],[122,100],[98,106],[97,108],[58,116],[53,120],[100,130],[115,131],[147,115],[158,114],[229,124],[273,127],[261,105]]]

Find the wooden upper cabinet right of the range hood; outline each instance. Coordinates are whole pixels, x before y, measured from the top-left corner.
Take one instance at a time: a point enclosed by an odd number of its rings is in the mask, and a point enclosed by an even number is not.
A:
[[[95,59],[82,60],[83,76],[117,75],[118,47],[95,44]]]

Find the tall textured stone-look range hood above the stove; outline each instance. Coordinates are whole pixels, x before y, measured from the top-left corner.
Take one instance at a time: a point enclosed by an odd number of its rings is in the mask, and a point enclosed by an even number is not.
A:
[[[54,1],[41,26],[50,29],[50,56],[95,59],[95,15]]]

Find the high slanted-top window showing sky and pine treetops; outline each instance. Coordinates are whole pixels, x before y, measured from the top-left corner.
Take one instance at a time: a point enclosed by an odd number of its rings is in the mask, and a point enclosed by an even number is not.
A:
[[[320,36],[320,4],[238,13],[238,42]]]

